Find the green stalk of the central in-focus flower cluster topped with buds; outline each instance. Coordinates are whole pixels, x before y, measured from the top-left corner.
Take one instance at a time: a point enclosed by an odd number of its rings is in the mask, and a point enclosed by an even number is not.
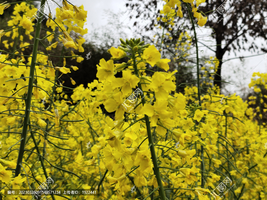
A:
[[[136,59],[135,52],[133,51],[134,72],[135,72],[136,76],[139,77],[135,59]],[[139,89],[141,89],[143,91],[140,82],[138,83],[138,87],[139,87]],[[142,104],[144,105],[146,103],[146,101],[144,99],[144,92],[141,95],[141,97],[142,97]],[[149,141],[149,145],[150,145],[151,158],[152,158],[152,161],[153,161],[155,175],[156,175],[156,179],[157,179],[157,182],[158,182],[160,198],[161,198],[161,200],[167,200],[166,199],[166,194],[165,194],[165,191],[164,191],[164,188],[163,188],[163,185],[162,185],[161,177],[160,177],[158,159],[157,159],[157,156],[156,156],[153,137],[152,137],[151,128],[150,128],[150,121],[149,121],[149,118],[148,118],[147,115],[144,115],[144,116],[145,116],[145,121],[146,121],[146,126],[147,126],[147,136],[148,136],[148,141]]]

